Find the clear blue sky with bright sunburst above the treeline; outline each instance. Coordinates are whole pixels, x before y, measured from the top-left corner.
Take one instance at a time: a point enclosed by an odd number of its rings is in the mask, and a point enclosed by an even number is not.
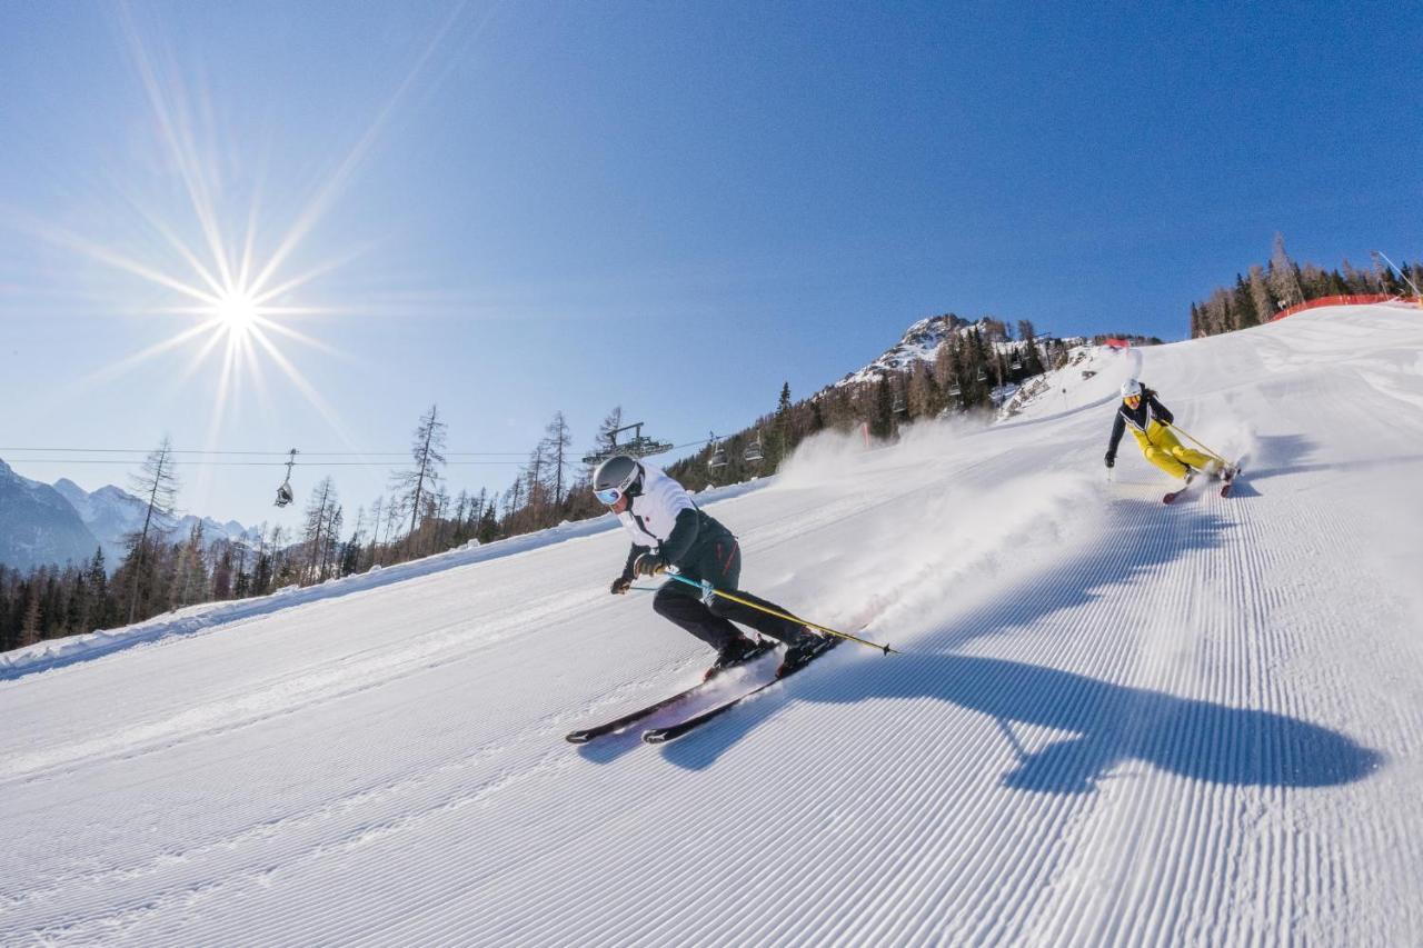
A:
[[[0,4],[0,458],[369,453],[293,478],[354,517],[433,403],[451,453],[615,404],[683,443],[928,315],[1180,339],[1276,231],[1423,258],[1417,7],[1081,10]],[[226,329],[162,346],[249,233],[287,369],[248,339],[225,379]],[[181,504],[295,522],[280,477],[189,467]]]

